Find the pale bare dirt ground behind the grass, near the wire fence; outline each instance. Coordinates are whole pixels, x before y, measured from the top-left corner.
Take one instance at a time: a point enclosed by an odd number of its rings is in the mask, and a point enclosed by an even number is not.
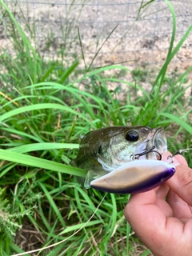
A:
[[[144,86],[166,59],[172,32],[172,17],[165,1],[154,1],[149,7],[142,8],[141,2],[136,0],[18,0],[7,1],[14,11],[22,27],[25,22],[33,27],[38,40],[39,50],[47,58],[57,58],[58,52],[66,54],[66,58],[82,54],[79,35],[86,65],[98,52],[102,42],[110,35],[102,46],[93,66],[105,66],[122,63],[130,70],[136,67],[148,70]],[[147,2],[147,1],[146,1]],[[176,14],[176,36],[174,46],[177,45],[186,30],[192,25],[192,2],[190,0],[170,1]],[[22,16],[26,21],[23,22]],[[114,30],[114,28],[117,28]],[[112,34],[111,31],[114,30]],[[2,36],[1,36],[2,35]],[[9,47],[9,38],[3,26],[0,27],[0,44],[2,48]],[[184,73],[192,66],[192,33],[183,43],[177,56],[169,66],[169,72]],[[82,62],[82,67],[84,63]],[[155,70],[155,72],[151,72]],[[110,75],[110,74],[109,74]],[[127,80],[130,74],[127,74]],[[192,72],[188,75],[186,86],[192,82]],[[190,95],[190,89],[187,92]]]

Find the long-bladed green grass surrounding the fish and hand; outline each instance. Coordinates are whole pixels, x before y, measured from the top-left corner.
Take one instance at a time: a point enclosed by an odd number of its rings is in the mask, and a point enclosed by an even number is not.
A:
[[[16,50],[15,56],[1,53],[0,254],[10,256],[58,242],[34,255],[136,255],[142,245],[123,216],[129,195],[106,194],[102,201],[104,193],[78,185],[77,176],[85,177],[86,171],[69,162],[78,152],[79,136],[104,126],[163,126],[170,151],[191,147],[192,110],[182,85],[192,67],[166,90],[163,85],[167,66],[192,27],[173,48],[175,17],[170,6],[170,49],[152,90],[146,93],[138,82],[105,74],[130,72],[125,66],[82,70],[82,77],[74,79],[78,60],[70,67],[46,62],[5,3],[1,5],[22,41],[22,50]],[[85,80],[89,85],[82,90]],[[119,98],[122,84],[126,85],[124,100]],[[108,90],[109,85],[114,90]],[[185,156],[192,166],[190,154]],[[142,249],[142,255],[148,254]]]

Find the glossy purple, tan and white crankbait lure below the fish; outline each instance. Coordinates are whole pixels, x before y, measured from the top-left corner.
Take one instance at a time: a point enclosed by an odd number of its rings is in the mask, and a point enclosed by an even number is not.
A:
[[[135,160],[90,182],[90,187],[114,194],[138,194],[153,190],[175,173],[175,167],[157,160]]]

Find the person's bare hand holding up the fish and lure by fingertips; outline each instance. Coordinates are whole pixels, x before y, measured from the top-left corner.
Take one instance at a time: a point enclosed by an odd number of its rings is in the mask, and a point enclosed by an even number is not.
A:
[[[172,178],[154,190],[131,195],[125,209],[130,226],[155,256],[192,255],[192,169],[181,155],[174,157],[174,165]]]

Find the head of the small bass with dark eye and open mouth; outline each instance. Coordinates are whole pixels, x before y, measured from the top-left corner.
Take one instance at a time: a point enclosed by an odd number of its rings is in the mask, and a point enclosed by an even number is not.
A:
[[[124,126],[108,137],[110,140],[107,147],[100,146],[98,151],[98,162],[108,171],[134,159],[160,160],[167,150],[163,128]]]

